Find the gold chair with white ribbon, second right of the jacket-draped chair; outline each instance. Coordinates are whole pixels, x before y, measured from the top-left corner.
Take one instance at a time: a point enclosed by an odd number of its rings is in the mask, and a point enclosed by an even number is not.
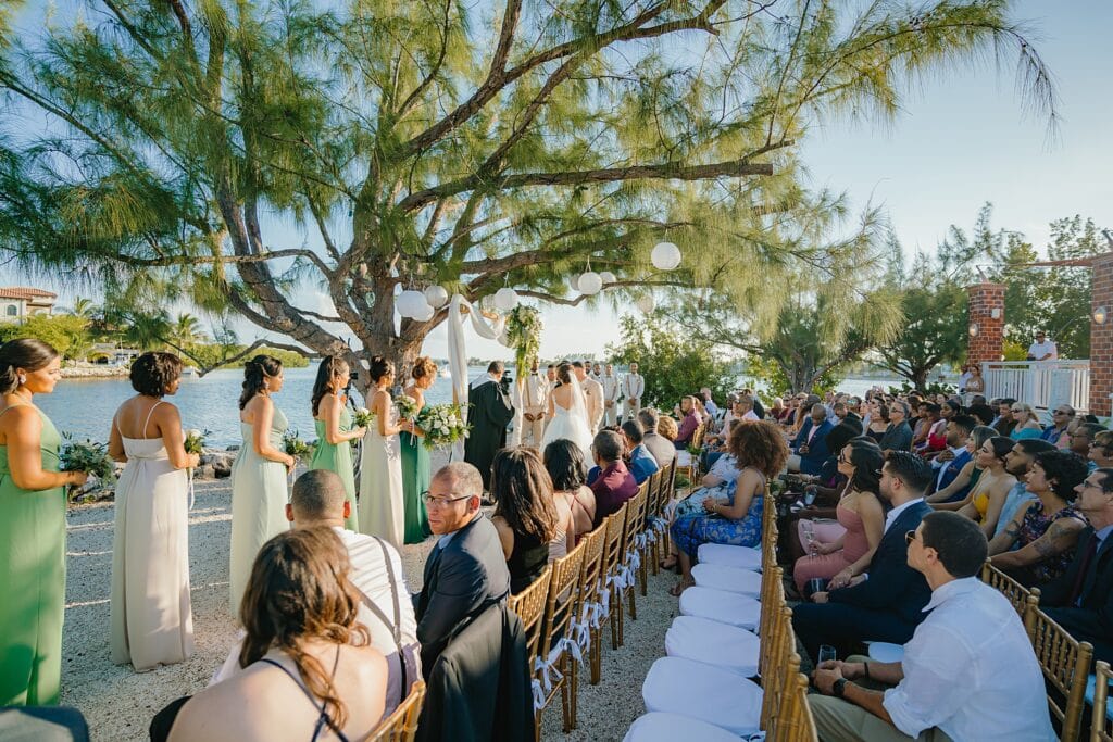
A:
[[[579,586],[583,556],[587,551],[585,544],[579,546],[564,558],[556,560],[550,564],[552,580],[549,582],[549,598],[545,603],[545,617],[542,622],[541,631],[541,653],[542,662],[551,663],[555,672],[550,673],[550,677],[541,676],[542,692],[544,693],[544,704],[535,709],[533,713],[534,739],[541,739],[541,714],[549,706],[556,693],[561,696],[561,709],[564,720],[564,733],[572,731],[571,725],[571,685],[568,680],[569,666],[577,664],[577,655],[580,653],[580,645],[574,637],[570,636],[569,626],[575,617],[579,605]],[[556,656],[553,656],[556,654]]]

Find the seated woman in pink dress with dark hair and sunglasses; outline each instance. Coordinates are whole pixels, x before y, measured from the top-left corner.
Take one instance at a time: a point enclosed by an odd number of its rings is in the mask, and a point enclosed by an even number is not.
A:
[[[841,586],[869,565],[885,528],[885,512],[877,498],[881,464],[880,449],[860,438],[839,452],[838,471],[849,484],[836,508],[838,526],[831,525],[841,535],[811,521],[798,523],[807,555],[796,561],[792,581],[801,595],[809,580],[823,577],[831,581],[830,587]],[[810,540],[808,533],[812,534]],[[830,538],[831,535],[835,537]]]

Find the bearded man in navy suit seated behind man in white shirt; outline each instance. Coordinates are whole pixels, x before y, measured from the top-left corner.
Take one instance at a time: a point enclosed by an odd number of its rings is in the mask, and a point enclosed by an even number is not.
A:
[[[846,587],[811,596],[792,613],[792,629],[815,660],[820,644],[833,644],[840,656],[863,641],[904,644],[924,620],[932,596],[924,575],[908,566],[908,542],[925,515],[932,512],[924,493],[932,484],[932,467],[907,452],[889,454],[881,467],[881,497],[893,508],[869,568]]]

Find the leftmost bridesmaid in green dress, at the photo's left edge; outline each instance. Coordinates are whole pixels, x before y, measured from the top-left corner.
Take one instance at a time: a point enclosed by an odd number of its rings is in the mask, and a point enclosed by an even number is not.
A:
[[[58,352],[24,338],[0,347],[0,706],[58,703],[66,605],[61,437],[36,407],[61,378]]]

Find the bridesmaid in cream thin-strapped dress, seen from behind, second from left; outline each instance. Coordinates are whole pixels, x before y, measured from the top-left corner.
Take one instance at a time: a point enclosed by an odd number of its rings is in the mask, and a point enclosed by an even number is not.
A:
[[[110,609],[112,662],[137,671],[194,653],[189,604],[189,479],[178,408],[162,397],[181,384],[181,360],[145,353],[131,364],[139,394],[112,418],[108,452],[126,462],[116,486]]]

